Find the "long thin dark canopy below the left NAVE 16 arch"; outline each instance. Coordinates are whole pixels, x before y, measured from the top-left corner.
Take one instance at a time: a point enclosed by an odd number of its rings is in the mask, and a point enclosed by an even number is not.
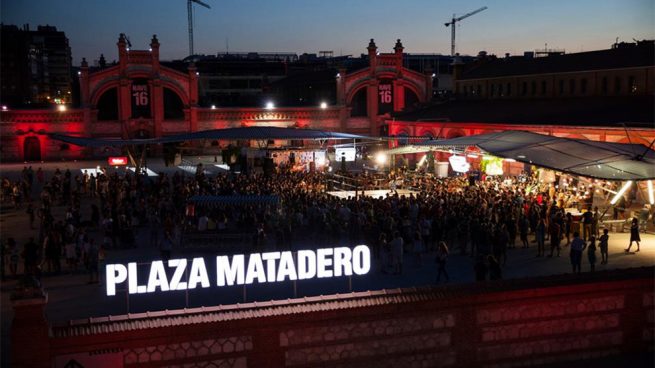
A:
[[[117,147],[143,144],[175,143],[199,139],[209,140],[328,140],[328,139],[366,139],[368,137],[339,132],[327,132],[315,129],[246,127],[204,130],[200,132],[170,135],[150,139],[101,139],[75,137],[52,133],[50,137],[62,142],[85,147]]]

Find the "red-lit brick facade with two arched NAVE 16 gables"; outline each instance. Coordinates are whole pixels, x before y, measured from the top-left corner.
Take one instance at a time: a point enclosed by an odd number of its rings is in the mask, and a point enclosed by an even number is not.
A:
[[[91,71],[83,60],[80,72],[81,106],[66,111],[2,111],[0,139],[4,161],[43,161],[107,158],[111,148],[82,148],[48,137],[61,133],[84,137],[149,138],[171,134],[242,126],[278,126],[380,135],[456,137],[508,129],[537,131],[563,137],[649,144],[652,128],[523,125],[481,122],[421,122],[392,118],[406,107],[432,96],[432,73],[403,66],[404,47],[398,40],[392,53],[379,53],[371,39],[369,66],[355,72],[339,69],[335,75],[336,105],[327,107],[208,108],[198,105],[198,74],[191,64],[180,72],[159,62],[159,41],[149,50],[130,50],[121,35],[116,65]],[[171,103],[170,101],[175,103]],[[106,113],[106,102],[115,110]],[[173,107],[171,107],[173,106]],[[171,113],[172,111],[172,113]],[[204,142],[209,148],[212,142]],[[202,147],[200,147],[202,149]]]

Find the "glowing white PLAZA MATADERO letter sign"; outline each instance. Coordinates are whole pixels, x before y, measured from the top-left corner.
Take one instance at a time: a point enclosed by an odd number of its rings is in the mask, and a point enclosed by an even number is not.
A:
[[[107,295],[116,295],[116,287],[125,283],[128,294],[209,288],[209,269],[215,270],[212,276],[218,287],[365,275],[371,270],[371,251],[366,245],[358,245],[353,249],[253,253],[248,258],[237,254],[217,256],[214,266],[208,268],[204,258],[153,261],[144,279],[136,262],[109,264],[105,272]]]

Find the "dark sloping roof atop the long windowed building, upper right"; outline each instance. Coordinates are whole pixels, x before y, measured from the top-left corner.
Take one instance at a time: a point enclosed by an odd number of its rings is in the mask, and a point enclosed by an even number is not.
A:
[[[465,68],[460,80],[653,66],[654,45],[654,41],[641,41],[637,44],[619,44],[619,47],[609,50],[540,58],[487,58]]]

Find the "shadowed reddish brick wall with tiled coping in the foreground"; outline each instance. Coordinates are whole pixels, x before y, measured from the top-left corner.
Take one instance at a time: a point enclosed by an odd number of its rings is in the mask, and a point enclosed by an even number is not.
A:
[[[653,275],[641,268],[41,324],[49,335],[32,323],[30,344],[16,346],[12,337],[12,360],[14,367],[75,360],[84,367],[409,368],[633,356],[653,350]],[[15,308],[18,332],[27,322]],[[35,348],[48,354],[34,355]]]

